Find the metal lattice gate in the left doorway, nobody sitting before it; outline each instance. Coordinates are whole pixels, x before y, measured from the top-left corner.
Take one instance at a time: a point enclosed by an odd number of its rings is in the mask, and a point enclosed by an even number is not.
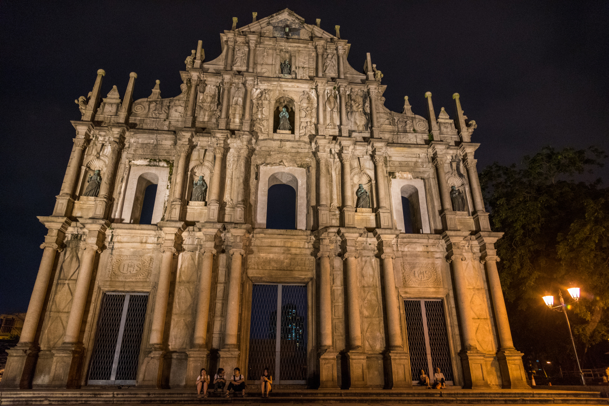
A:
[[[89,385],[135,385],[147,305],[147,293],[104,294]]]

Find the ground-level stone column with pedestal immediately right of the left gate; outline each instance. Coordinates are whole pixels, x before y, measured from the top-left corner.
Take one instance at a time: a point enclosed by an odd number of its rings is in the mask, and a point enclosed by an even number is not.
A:
[[[163,230],[164,239],[161,246],[163,259],[161,260],[157,292],[154,295],[154,311],[148,342],[150,352],[144,359],[141,368],[139,368],[138,386],[160,389],[163,382],[163,363],[166,354],[163,335],[167,315],[167,301],[169,300],[174,255],[178,252],[180,234],[183,231],[184,223],[164,221],[159,222],[158,225]]]

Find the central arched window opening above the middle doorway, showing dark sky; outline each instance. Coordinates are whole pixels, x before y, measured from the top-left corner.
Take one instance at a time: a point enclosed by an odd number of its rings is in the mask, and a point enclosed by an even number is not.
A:
[[[269,188],[267,229],[296,230],[296,191],[286,184]]]

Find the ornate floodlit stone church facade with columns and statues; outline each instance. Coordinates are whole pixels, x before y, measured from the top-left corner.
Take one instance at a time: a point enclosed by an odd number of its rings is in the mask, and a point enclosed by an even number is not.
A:
[[[192,387],[235,366],[309,388],[407,388],[436,366],[465,388],[525,387],[459,95],[452,119],[431,93],[427,117],[407,97],[392,112],[338,26],[253,20],[233,19],[214,60],[199,41],[176,97],[157,81],[133,101],[132,73],[102,98],[100,69],[77,100],[2,387]],[[291,230],[266,228],[278,184]]]

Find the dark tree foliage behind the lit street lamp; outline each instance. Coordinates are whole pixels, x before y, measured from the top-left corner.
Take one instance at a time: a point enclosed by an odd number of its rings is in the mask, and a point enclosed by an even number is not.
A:
[[[564,316],[548,309],[541,297],[581,288],[579,303],[569,306],[569,321],[580,359],[591,345],[609,339],[609,188],[590,177],[602,167],[603,151],[549,146],[509,167],[493,163],[480,181],[495,231],[499,275],[516,348],[555,359],[574,368]],[[582,366],[583,367],[583,366]]]

